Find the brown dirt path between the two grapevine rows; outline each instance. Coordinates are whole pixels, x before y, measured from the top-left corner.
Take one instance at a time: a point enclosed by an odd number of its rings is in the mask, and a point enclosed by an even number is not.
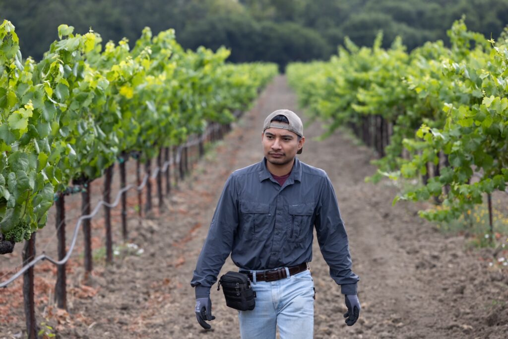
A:
[[[68,325],[59,326],[61,337],[239,337],[236,311],[228,309],[222,292],[213,288],[217,319],[211,322],[213,330],[201,329],[189,281],[226,178],[262,159],[262,122],[278,108],[301,112],[284,77],[269,85],[233,132],[180,184],[168,204],[170,211],[144,221],[131,234],[144,253],[99,270],[93,297],[71,297],[71,317]],[[321,132],[318,124],[306,128],[300,159],[323,168],[334,184],[353,269],[361,278],[363,308],[359,322],[345,326],[343,296],[314,241],[314,337],[505,338],[506,272],[489,270],[478,252],[465,252],[462,237],[445,237],[422,221],[416,215],[418,206],[392,207],[396,189],[389,182],[364,182],[374,172],[369,164],[372,151],[340,133],[323,142],[312,140]],[[223,272],[231,269],[235,267],[228,259]],[[17,326],[22,323],[7,327],[15,333]]]

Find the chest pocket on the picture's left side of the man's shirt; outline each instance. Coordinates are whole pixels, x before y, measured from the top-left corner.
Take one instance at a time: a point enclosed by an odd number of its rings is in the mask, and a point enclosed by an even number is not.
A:
[[[249,240],[266,237],[270,222],[270,205],[260,202],[240,201],[240,220],[242,237]]]

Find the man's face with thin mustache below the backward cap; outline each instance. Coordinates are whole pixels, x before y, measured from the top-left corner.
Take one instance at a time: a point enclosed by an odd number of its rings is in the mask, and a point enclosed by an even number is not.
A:
[[[281,122],[277,121],[277,123]],[[280,128],[266,129],[262,138],[266,160],[279,166],[292,162],[296,157],[296,152],[303,147],[305,142],[304,137],[298,140],[296,133]]]

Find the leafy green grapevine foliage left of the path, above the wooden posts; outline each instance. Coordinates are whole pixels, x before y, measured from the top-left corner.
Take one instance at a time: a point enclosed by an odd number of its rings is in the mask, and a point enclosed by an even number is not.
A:
[[[173,29],[146,27],[131,50],[90,30],[58,26],[43,59],[23,61],[15,27],[0,25],[0,233],[19,242],[44,227],[71,182],[103,175],[121,155],[143,162],[161,147],[226,123],[277,74],[229,65],[229,50],[185,51]]]

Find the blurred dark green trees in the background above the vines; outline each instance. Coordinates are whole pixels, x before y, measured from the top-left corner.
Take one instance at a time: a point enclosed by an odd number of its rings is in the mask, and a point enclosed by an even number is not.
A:
[[[16,26],[23,56],[40,59],[61,23],[104,41],[134,42],[145,26],[154,34],[175,28],[185,48],[232,49],[230,61],[328,59],[344,37],[384,47],[396,36],[415,48],[448,43],[446,30],[466,15],[467,27],[496,39],[508,24],[508,0],[0,0],[0,19]]]

